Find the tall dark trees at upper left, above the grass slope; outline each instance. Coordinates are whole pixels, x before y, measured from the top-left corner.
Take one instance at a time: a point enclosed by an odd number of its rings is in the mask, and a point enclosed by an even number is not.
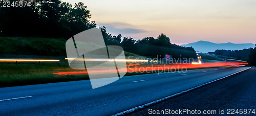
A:
[[[60,0],[44,0],[32,1],[31,7],[2,7],[3,2],[0,6],[0,36],[68,39],[96,27],[83,3],[72,7]]]

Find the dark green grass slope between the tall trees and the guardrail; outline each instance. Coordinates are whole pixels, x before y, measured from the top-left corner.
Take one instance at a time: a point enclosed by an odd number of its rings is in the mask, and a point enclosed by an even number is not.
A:
[[[0,37],[0,54],[66,56],[65,44],[62,38]]]

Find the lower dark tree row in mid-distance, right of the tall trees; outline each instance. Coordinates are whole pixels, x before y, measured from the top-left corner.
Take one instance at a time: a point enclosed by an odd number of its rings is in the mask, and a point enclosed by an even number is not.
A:
[[[101,31],[107,45],[121,45],[126,52],[154,58],[163,58],[165,54],[172,55],[173,58],[196,57],[196,52],[193,48],[172,44],[164,34],[160,34],[156,39],[154,37],[145,37],[136,41],[131,37],[123,37],[121,41],[121,34],[112,36],[106,33],[105,27],[101,27]]]

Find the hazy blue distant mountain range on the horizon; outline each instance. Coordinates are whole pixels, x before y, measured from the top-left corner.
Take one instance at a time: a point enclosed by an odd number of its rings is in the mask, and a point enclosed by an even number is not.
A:
[[[195,51],[202,53],[214,52],[215,50],[243,50],[248,48],[254,48],[255,44],[252,43],[213,43],[209,41],[197,41],[194,43],[188,43],[180,45],[182,47],[193,47]]]

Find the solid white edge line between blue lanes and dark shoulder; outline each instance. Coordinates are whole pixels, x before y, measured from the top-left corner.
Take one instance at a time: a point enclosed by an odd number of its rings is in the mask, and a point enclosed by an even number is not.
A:
[[[193,89],[196,89],[196,88],[202,87],[202,86],[204,86],[204,85],[207,85],[207,84],[210,84],[210,83],[213,83],[213,82],[219,81],[219,80],[221,80],[221,79],[224,79],[224,78],[227,78],[227,77],[229,77],[229,76],[232,76],[232,75],[238,74],[238,73],[243,72],[243,71],[245,71],[245,70],[247,70],[247,69],[250,69],[250,68],[251,68],[251,67],[246,68],[246,69],[243,69],[242,71],[239,71],[239,72],[237,72],[237,73],[233,73],[233,74],[230,74],[230,75],[228,75],[228,76],[225,76],[225,77],[219,78],[219,79],[217,79],[217,80],[210,81],[210,82],[208,82],[208,83],[205,83],[205,84],[202,84],[202,85],[199,85],[199,86],[196,86],[196,87],[193,87],[193,88],[190,88],[190,89],[187,89],[187,90],[184,90],[184,91],[178,92],[177,94],[170,95],[170,96],[167,96],[167,97],[165,97],[165,98],[162,98],[162,99],[159,99],[159,100],[156,100],[156,101],[153,101],[153,102],[150,102],[150,103],[147,103],[147,104],[144,104],[144,105],[138,106],[138,107],[134,107],[134,108],[129,109],[129,110],[122,111],[122,112],[120,112],[120,113],[116,113],[116,114],[114,114],[114,115],[124,115],[124,114],[131,113],[131,112],[133,112],[133,111],[135,111],[135,110],[142,109],[142,108],[144,108],[144,107],[146,107],[146,106],[150,106],[150,105],[152,105],[152,104],[155,104],[155,103],[161,102],[161,101],[163,101],[163,100],[166,100],[166,99],[169,99],[169,98],[172,98],[172,97],[175,97],[175,96],[178,96],[178,95],[184,94],[185,92],[188,92],[188,91],[190,91],[190,90],[193,90]]]

